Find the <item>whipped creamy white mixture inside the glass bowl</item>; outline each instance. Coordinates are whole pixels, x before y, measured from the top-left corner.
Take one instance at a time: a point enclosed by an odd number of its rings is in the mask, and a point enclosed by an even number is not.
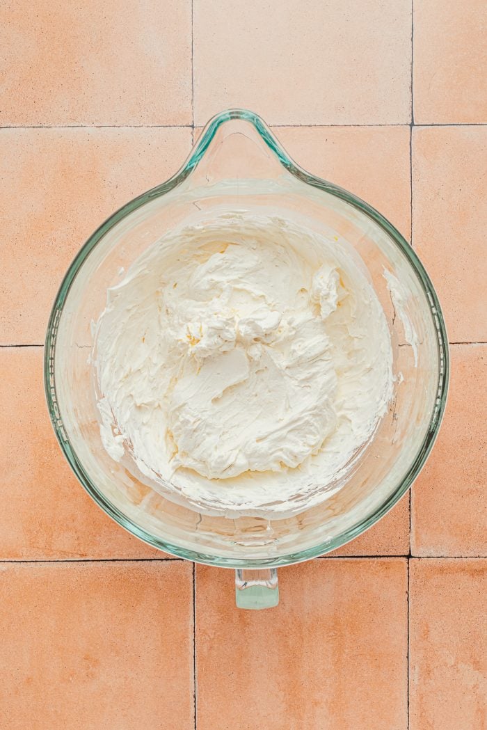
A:
[[[137,259],[108,291],[93,361],[110,456],[232,517],[326,499],[393,382],[383,309],[346,242],[238,214]]]

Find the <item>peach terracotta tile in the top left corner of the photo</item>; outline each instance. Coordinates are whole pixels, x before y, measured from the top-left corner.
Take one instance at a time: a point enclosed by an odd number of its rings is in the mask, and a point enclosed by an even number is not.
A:
[[[0,6],[3,126],[191,124],[191,1]]]

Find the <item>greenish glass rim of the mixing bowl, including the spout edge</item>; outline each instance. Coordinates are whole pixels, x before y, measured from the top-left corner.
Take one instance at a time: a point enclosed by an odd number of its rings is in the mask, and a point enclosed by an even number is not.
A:
[[[180,183],[182,183],[183,180],[185,180],[199,164],[199,161],[202,159],[207,147],[212,142],[213,137],[215,137],[218,128],[229,120],[244,120],[252,124],[275,157],[294,177],[301,180],[303,183],[307,183],[307,185],[311,185],[312,187],[318,188],[318,190],[326,193],[331,193],[331,195],[348,202],[348,204],[367,215],[368,218],[373,220],[378,226],[380,226],[380,228],[383,228],[383,230],[386,231],[391,240],[407,258],[407,261],[409,261],[413,271],[421,283],[426,298],[430,302],[434,329],[437,334],[437,349],[440,363],[437,399],[432,411],[429,429],[426,432],[421,447],[418,449],[409,469],[407,469],[407,473],[399,480],[396,488],[388,496],[385,502],[383,502],[380,507],[373,510],[369,515],[361,518],[361,520],[358,520],[357,523],[333,539],[323,540],[323,542],[319,542],[311,548],[298,550],[294,553],[288,553],[283,556],[256,559],[227,558],[212,554],[207,555],[196,550],[183,548],[180,545],[175,545],[156,537],[137,525],[134,520],[131,520],[131,518],[124,515],[123,512],[115,506],[115,504],[112,504],[112,502],[110,502],[110,500],[107,499],[101,491],[99,491],[96,485],[91,481],[90,477],[86,474],[85,469],[83,469],[83,464],[81,464],[80,459],[77,457],[76,452],[69,442],[66,431],[64,430],[55,392],[54,359],[58,324],[66,297],[68,296],[74,278],[77,276],[81,266],[83,266],[85,259],[88,257],[89,253],[91,253],[91,250],[93,250],[93,248],[99,243],[101,238],[104,237],[107,231],[115,226],[120,220],[125,218],[134,210],[137,210],[137,208],[142,207],[142,205],[145,205],[147,202],[169,193],[169,191],[172,191],[175,187],[177,187],[177,185],[180,185]],[[399,231],[371,205],[353,195],[353,193],[346,191],[344,188],[340,188],[338,185],[329,183],[321,177],[312,175],[297,165],[285,152],[283,146],[280,145],[280,142],[278,142],[274,137],[264,120],[255,113],[242,109],[226,110],[210,119],[207,126],[204,128],[201,137],[199,137],[199,140],[196,142],[196,145],[193,146],[193,149],[183,166],[172,177],[170,177],[169,180],[166,180],[165,183],[161,183],[161,185],[157,185],[156,188],[151,188],[149,191],[142,193],[142,195],[137,196],[137,198],[134,198],[120,207],[119,210],[110,215],[110,217],[107,218],[107,220],[105,220],[104,223],[102,223],[101,226],[93,232],[93,234],[91,234],[83,247],[80,248],[77,255],[74,257],[72,264],[69,266],[69,269],[61,282],[58,293],[55,296],[53,309],[51,310],[47,325],[44,349],[44,385],[50,420],[55,431],[55,436],[61,446],[61,450],[64,453],[69,466],[71,466],[72,471],[77,476],[77,479],[85,488],[85,491],[88,492],[96,504],[98,504],[99,507],[107,513],[107,515],[135,537],[141,539],[142,542],[146,542],[154,548],[164,550],[164,552],[171,553],[179,558],[185,558],[196,563],[227,568],[269,568],[310,560],[311,558],[324,555],[325,553],[329,553],[331,550],[340,548],[342,545],[345,545],[345,543],[350,542],[350,540],[355,537],[358,537],[358,535],[362,534],[378,520],[383,518],[383,516],[386,515],[392,507],[394,507],[394,504],[399,502],[399,499],[404,496],[404,493],[406,493],[410,488],[415,478],[418,477],[418,474],[421,472],[421,469],[426,462],[426,458],[428,458],[429,453],[432,450],[445,412],[449,377],[450,358],[448,352],[448,336],[445,320],[440,307],[440,301],[438,301],[437,293],[434,291],[429,275],[426,273],[426,269],[423,264],[421,264],[420,259],[413,250],[413,247],[407,243],[402,234],[400,234]]]

